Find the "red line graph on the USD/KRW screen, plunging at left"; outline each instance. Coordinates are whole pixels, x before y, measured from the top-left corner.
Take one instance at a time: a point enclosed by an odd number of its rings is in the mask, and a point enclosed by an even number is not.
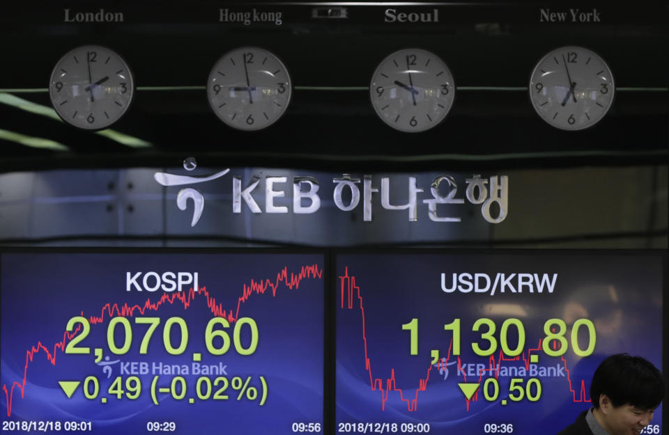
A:
[[[371,390],[372,391],[378,390],[381,393],[381,409],[385,411],[385,402],[387,402],[388,400],[388,395],[390,394],[390,391],[394,391],[399,393],[399,397],[403,402],[406,402],[407,411],[416,411],[418,406],[418,393],[426,390],[427,382],[430,379],[430,372],[432,370],[433,365],[429,365],[429,367],[426,369],[425,376],[420,377],[420,379],[418,379],[418,388],[416,388],[413,397],[410,397],[410,395],[408,395],[408,398],[405,398],[404,397],[405,393],[403,389],[397,388],[394,368],[390,370],[389,378],[386,379],[375,378],[374,375],[372,374],[371,359],[369,358],[369,354],[367,353],[367,326],[365,324],[365,319],[364,319],[364,304],[362,302],[362,295],[360,294],[360,287],[355,285],[355,276],[348,275],[348,267],[345,268],[344,276],[339,276],[339,280],[341,282],[341,287],[340,287],[341,308],[342,309],[348,308],[349,310],[352,310],[354,308],[360,308],[360,315],[362,316],[362,342],[364,343],[364,369],[367,370],[367,372],[369,373],[369,386]],[[452,346],[453,346],[453,340],[450,340],[447,356],[437,363],[436,365],[437,370],[441,370],[442,368],[445,369],[447,367],[447,364],[450,358],[452,357],[451,355]],[[499,379],[502,361],[521,361],[522,359],[523,364],[525,365],[525,370],[529,370],[530,355],[532,354],[532,352],[536,353],[538,351],[541,351],[541,340],[539,340],[539,344],[537,345],[537,347],[527,349],[527,353],[523,351],[523,354],[518,356],[514,357],[505,356],[505,354],[501,350],[499,351],[498,356],[496,358],[494,354],[489,356],[488,368],[483,369],[482,371],[479,372],[479,379],[478,379],[479,384],[483,379],[484,372],[492,373],[495,379]],[[571,392],[574,402],[590,402],[590,398],[586,398],[585,381],[583,380],[580,381],[578,398],[576,397],[576,390],[574,390],[574,387],[571,384],[571,373],[567,368],[567,360],[565,360],[563,357],[561,357],[561,359],[562,363],[564,364],[564,371],[567,374],[569,391]],[[462,370],[462,361],[460,359],[460,356],[457,356],[457,360],[458,360],[458,372],[459,373],[461,372],[463,374],[464,381],[467,382],[467,375]],[[479,390],[477,390],[475,395],[473,395],[470,400],[465,399],[467,411],[469,411],[470,402],[478,400],[480,390],[481,389],[479,388]]]

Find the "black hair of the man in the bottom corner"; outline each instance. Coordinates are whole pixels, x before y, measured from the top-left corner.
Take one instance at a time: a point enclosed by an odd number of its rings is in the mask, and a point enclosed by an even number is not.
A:
[[[594,371],[590,400],[599,408],[599,396],[605,394],[614,407],[631,404],[638,409],[655,409],[664,397],[662,374],[640,356],[608,356]]]

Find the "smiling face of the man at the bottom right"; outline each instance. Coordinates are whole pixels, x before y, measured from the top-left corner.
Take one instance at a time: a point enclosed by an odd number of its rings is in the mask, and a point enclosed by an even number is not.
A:
[[[606,395],[601,395],[599,409],[595,409],[593,413],[609,435],[636,435],[650,424],[654,411],[639,409],[631,404],[616,407]]]

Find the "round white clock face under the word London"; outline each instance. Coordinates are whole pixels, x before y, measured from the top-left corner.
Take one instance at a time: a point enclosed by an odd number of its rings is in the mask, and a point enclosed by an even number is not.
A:
[[[128,110],[133,95],[128,64],[105,47],[73,49],[51,73],[49,97],[56,113],[82,129],[109,127]]]

